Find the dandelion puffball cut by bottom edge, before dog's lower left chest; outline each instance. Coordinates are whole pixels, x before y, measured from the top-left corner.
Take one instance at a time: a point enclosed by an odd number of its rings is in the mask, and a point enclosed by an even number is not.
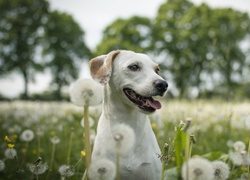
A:
[[[92,161],[88,170],[88,177],[91,180],[114,180],[115,175],[115,164],[108,159]]]

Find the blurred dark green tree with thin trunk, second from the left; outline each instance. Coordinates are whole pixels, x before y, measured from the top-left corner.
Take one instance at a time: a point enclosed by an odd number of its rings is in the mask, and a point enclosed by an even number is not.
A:
[[[51,69],[52,85],[56,85],[55,96],[61,99],[61,90],[78,77],[82,58],[90,57],[84,43],[84,32],[71,15],[53,11],[45,26],[44,55]]]

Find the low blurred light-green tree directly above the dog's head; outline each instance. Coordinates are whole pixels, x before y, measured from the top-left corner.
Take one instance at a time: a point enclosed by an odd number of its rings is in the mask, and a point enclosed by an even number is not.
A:
[[[117,19],[107,26],[103,38],[96,48],[96,55],[107,54],[116,49],[145,52],[150,46],[151,24],[146,17],[133,16]]]

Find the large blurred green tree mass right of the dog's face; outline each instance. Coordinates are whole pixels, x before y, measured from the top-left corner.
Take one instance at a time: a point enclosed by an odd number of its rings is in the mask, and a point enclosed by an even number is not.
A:
[[[233,88],[244,65],[239,42],[249,33],[246,13],[168,0],[160,6],[152,27],[152,50],[170,55],[165,68],[172,73],[180,96],[209,83]]]

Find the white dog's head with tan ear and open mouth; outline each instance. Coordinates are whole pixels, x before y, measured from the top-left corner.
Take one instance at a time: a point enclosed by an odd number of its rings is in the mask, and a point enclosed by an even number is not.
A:
[[[168,84],[159,76],[159,67],[147,55],[132,51],[112,51],[89,62],[93,79],[109,83],[128,105],[144,113],[161,108],[153,96],[163,96]]]

